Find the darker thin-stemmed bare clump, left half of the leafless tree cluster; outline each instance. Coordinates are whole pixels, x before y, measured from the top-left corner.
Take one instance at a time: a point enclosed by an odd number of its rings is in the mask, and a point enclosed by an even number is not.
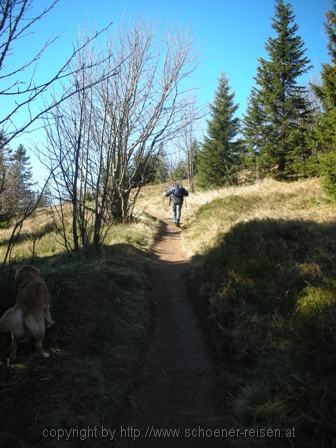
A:
[[[58,204],[54,209],[55,222],[68,251],[78,251],[92,241],[97,247],[108,221],[109,154],[104,144],[108,109],[101,104],[99,84],[116,76],[120,66],[112,70],[110,62],[105,62],[99,70],[94,64],[88,69],[84,61],[94,60],[94,55],[93,47],[85,47],[77,55],[74,65],[78,69],[71,78],[78,87],[76,95],[58,104],[45,118],[48,143],[44,163],[54,173],[52,190],[54,203]],[[85,85],[90,88],[82,89]],[[71,238],[65,224],[69,215]]]

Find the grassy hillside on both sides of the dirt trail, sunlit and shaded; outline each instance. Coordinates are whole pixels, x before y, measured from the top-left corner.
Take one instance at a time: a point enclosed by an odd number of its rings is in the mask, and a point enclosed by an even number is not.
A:
[[[66,256],[46,210],[25,223],[14,266],[41,268],[56,326],[46,338],[50,360],[36,359],[23,345],[11,368],[9,340],[0,336],[1,447],[80,446],[78,438],[43,439],[41,433],[101,422],[115,428],[127,419],[129,392],[141,381],[149,345],[145,260],[158,222],[147,213],[171,217],[162,198],[167,188],[146,187],[138,220],[113,226],[98,254]],[[199,192],[184,205],[190,297],[216,360],[220,422],[295,428],[295,438],[247,438],[233,446],[336,443],[335,218],[336,205],[326,202],[318,180]],[[8,233],[0,230],[0,257]],[[0,313],[15,298],[13,272],[6,274]],[[89,442],[104,445],[101,438]]]

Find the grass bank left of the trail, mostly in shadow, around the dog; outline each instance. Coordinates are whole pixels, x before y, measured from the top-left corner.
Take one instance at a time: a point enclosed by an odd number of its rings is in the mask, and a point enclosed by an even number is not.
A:
[[[50,359],[22,344],[10,368],[9,337],[0,335],[0,446],[113,446],[99,431],[118,428],[127,417],[130,390],[141,376],[151,317],[146,257],[158,222],[144,216],[114,226],[99,253],[73,257],[53,232],[47,214],[38,212],[13,254],[17,263],[30,263],[35,245],[33,262],[50,288],[56,324],[45,338]],[[0,283],[2,314],[15,300],[13,273]],[[54,430],[73,432],[58,440]]]

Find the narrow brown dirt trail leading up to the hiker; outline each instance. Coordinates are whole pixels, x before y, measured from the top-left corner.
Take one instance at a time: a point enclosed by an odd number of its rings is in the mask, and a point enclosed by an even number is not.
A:
[[[213,427],[215,374],[186,293],[189,260],[181,249],[181,230],[171,220],[162,231],[150,265],[154,328],[143,384],[134,398],[142,436],[123,446],[215,447],[216,440],[155,438],[151,428]],[[226,446],[221,440],[219,446]]]

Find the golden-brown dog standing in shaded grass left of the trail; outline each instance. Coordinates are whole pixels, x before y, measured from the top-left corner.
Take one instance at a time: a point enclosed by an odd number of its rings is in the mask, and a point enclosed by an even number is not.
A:
[[[42,342],[46,327],[55,322],[49,311],[49,291],[39,270],[34,266],[23,266],[15,273],[17,286],[16,303],[0,319],[0,331],[12,337],[10,360],[16,360],[17,342],[21,338],[34,338],[36,351],[45,358]]]

